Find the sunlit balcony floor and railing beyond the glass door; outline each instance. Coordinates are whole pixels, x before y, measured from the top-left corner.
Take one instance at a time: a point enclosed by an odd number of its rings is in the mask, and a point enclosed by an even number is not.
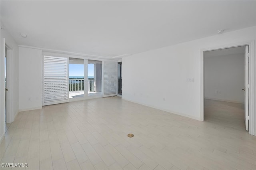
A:
[[[87,80],[88,94],[95,93],[95,81]],[[69,79],[69,98],[84,96],[84,79]]]

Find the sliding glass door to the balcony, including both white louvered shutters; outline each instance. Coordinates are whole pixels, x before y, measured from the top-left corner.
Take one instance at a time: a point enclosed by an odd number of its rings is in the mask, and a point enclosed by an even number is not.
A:
[[[52,105],[117,95],[116,61],[96,61],[62,55],[43,56],[42,104]],[[80,98],[80,99],[79,99]]]

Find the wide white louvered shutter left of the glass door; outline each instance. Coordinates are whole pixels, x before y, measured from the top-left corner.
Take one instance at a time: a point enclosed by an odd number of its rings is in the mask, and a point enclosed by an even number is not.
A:
[[[68,58],[44,56],[43,106],[68,102]]]

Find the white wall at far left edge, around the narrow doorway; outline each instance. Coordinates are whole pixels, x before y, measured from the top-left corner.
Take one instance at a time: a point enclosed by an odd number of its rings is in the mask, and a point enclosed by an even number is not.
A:
[[[1,24],[2,27],[4,27],[3,24]],[[9,94],[9,114],[10,119],[9,122],[13,122],[16,114],[19,110],[19,101],[18,101],[18,44],[14,41],[12,36],[8,33],[8,30],[5,28],[1,29],[1,57],[0,57],[0,134],[1,137],[4,134],[4,126],[5,126],[5,88],[4,88],[4,47],[5,44],[10,47],[12,50],[12,55],[7,56],[8,57],[8,73],[10,76],[10,79],[8,79],[8,94]],[[4,43],[5,40],[5,43]]]

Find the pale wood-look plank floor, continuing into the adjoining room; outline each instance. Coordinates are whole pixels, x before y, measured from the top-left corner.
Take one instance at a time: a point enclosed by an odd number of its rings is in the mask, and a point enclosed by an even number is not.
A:
[[[6,125],[1,163],[28,163],[26,170],[256,170],[256,136],[244,128],[242,105],[205,103],[204,122],[120,97],[20,112]]]

